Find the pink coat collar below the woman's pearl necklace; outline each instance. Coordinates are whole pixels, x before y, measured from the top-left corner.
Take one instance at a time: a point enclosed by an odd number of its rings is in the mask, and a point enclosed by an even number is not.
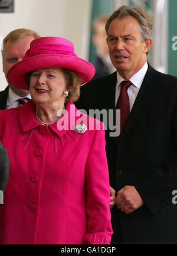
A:
[[[56,121],[54,124],[48,125],[48,127],[58,137],[62,137],[67,131],[74,131],[76,122],[81,116],[83,114],[77,110],[74,104],[67,102],[64,115],[58,119],[60,122]],[[30,131],[35,127],[43,126],[35,118],[35,104],[32,100],[19,107],[19,123],[24,132]]]

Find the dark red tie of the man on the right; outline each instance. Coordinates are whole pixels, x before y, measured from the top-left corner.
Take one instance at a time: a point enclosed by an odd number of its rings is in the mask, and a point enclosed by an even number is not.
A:
[[[129,95],[127,93],[127,89],[130,85],[132,85],[132,83],[129,80],[120,83],[120,95],[116,106],[116,109],[120,109],[120,135],[123,132],[130,112]]]

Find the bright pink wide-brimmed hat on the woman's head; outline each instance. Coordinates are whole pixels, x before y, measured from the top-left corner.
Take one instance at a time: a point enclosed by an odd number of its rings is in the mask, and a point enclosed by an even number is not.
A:
[[[40,37],[33,40],[22,61],[11,67],[8,80],[12,85],[27,90],[25,75],[45,67],[65,67],[74,70],[82,84],[94,76],[94,66],[78,58],[71,41],[62,37]]]

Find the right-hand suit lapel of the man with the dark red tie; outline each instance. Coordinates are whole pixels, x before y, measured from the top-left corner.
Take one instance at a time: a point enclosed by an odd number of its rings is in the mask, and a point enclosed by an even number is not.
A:
[[[127,124],[122,133],[122,138],[125,137],[132,128],[135,127],[137,122],[146,114],[151,98],[158,96],[156,95],[156,92],[158,93],[160,86],[158,84],[156,73],[156,70],[149,65],[132,111],[127,119]]]

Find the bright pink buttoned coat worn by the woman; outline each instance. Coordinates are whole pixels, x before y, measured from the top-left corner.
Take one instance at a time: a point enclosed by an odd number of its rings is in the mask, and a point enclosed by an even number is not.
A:
[[[73,111],[70,111],[70,106]],[[34,103],[0,112],[0,139],[10,159],[1,244],[109,244],[110,193],[104,131],[40,125]],[[80,118],[78,112],[76,121]],[[65,114],[64,114],[65,116]],[[84,115],[84,118],[88,116]],[[87,126],[95,119],[87,119]]]

